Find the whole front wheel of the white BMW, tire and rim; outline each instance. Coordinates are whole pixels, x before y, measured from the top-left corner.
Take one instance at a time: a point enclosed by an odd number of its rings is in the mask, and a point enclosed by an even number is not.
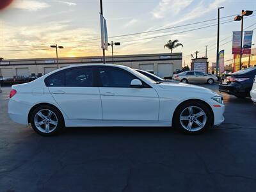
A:
[[[212,112],[203,102],[191,100],[175,111],[173,123],[184,133],[200,133],[212,126]]]

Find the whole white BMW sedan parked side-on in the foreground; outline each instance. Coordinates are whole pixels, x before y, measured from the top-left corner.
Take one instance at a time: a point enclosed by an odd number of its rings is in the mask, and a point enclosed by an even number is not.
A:
[[[8,113],[43,136],[65,127],[161,126],[202,132],[224,120],[223,99],[184,83],[163,84],[120,65],[76,65],[13,85]]]

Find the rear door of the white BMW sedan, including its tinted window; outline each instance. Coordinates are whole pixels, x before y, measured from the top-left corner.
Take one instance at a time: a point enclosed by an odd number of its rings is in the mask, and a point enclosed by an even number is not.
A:
[[[99,87],[93,67],[62,70],[48,77],[46,84],[60,108],[72,120],[102,120]]]

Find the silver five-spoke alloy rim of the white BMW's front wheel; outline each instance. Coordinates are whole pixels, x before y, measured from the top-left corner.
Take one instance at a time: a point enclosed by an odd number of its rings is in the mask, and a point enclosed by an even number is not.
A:
[[[180,124],[187,131],[203,129],[207,121],[205,111],[198,106],[189,106],[180,113]]]

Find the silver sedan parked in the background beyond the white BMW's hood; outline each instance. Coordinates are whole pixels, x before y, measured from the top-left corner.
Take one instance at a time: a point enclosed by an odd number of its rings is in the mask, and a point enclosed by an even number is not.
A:
[[[176,81],[180,81],[182,83],[208,83],[212,84],[218,81],[216,76],[210,74],[204,74],[200,71],[185,71],[180,74],[173,75],[172,79]]]

